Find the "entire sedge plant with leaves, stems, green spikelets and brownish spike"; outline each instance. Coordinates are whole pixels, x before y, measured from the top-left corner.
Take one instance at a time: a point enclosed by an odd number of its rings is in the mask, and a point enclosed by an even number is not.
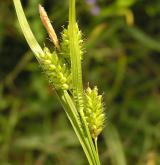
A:
[[[23,34],[50,85],[55,89],[89,164],[100,165],[97,139],[104,128],[104,106],[97,87],[83,88],[83,39],[76,22],[75,0],[69,0],[69,24],[63,29],[61,42],[45,9],[39,5],[41,21],[53,43],[54,51],[47,47],[41,48],[27,22],[21,1],[13,2]]]

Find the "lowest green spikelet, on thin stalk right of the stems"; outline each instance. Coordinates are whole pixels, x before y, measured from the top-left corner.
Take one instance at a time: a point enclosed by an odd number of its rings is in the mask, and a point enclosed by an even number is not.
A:
[[[97,87],[93,90],[90,87],[86,89],[84,113],[91,136],[96,139],[102,132],[105,122],[102,95],[98,95]]]

